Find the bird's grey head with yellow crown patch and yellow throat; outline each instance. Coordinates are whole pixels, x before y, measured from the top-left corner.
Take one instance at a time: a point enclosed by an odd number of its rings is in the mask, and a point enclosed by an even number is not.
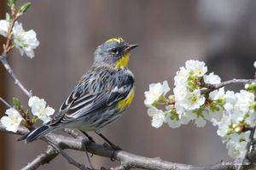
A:
[[[95,62],[125,68],[129,63],[131,49],[136,47],[137,44],[129,44],[121,37],[110,38],[96,48]]]

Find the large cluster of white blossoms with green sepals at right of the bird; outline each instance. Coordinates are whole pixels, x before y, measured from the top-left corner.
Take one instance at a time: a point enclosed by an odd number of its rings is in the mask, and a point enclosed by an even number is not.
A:
[[[218,126],[229,155],[244,157],[249,136],[245,129],[255,126],[256,85],[247,84],[239,93],[208,88],[220,82],[218,75],[207,74],[204,62],[188,60],[174,77],[173,95],[166,95],[170,91],[166,81],[150,84],[144,103],[152,126],[158,128],[166,122],[175,128],[194,122],[196,127],[204,127],[207,121],[212,122]]]

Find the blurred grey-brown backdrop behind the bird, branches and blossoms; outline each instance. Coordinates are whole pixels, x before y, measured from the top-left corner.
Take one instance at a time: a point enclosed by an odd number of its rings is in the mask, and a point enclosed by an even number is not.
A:
[[[5,4],[0,1],[1,19],[7,10]],[[211,123],[203,128],[192,123],[177,129],[167,125],[151,127],[143,105],[144,91],[149,83],[165,80],[173,88],[173,77],[187,59],[205,61],[208,70],[223,81],[253,77],[255,8],[253,0],[32,1],[32,8],[20,21],[26,31],[37,32],[40,46],[34,59],[20,56],[16,49],[8,59],[26,88],[58,110],[79,77],[90,69],[97,45],[118,36],[138,43],[129,66],[136,76],[135,99],[125,115],[102,133],[123,150],[142,156],[160,156],[166,161],[197,166],[229,161],[225,145]],[[0,40],[2,47],[3,38]],[[9,103],[16,96],[27,107],[26,96],[15,87],[2,65],[0,95]],[[0,107],[3,115],[6,108],[2,104]],[[25,144],[16,139],[18,136],[0,133],[0,169],[20,169],[46,150],[43,141]],[[103,142],[98,138],[96,141]],[[86,163],[83,152],[68,153]],[[96,168],[116,164],[100,156],[93,156],[91,161]],[[76,169],[62,156],[39,169],[54,168]]]

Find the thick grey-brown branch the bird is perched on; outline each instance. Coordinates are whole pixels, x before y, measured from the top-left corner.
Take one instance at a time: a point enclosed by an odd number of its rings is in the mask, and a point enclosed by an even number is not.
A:
[[[7,131],[3,124],[0,122],[0,131],[5,133],[12,133]],[[29,131],[26,129],[26,127],[19,127],[17,133],[19,135],[24,135],[28,133]],[[75,132],[75,131],[74,131]],[[236,170],[235,162],[230,162],[229,164],[224,163],[218,163],[216,165],[212,166],[206,166],[206,167],[195,167],[192,165],[185,165],[185,164],[179,164],[179,163],[173,163],[170,161],[163,161],[159,157],[156,158],[148,158],[144,156],[138,156],[129,152],[126,152],[124,150],[113,150],[112,148],[104,145],[104,144],[96,144],[91,143],[87,139],[73,139],[70,137],[66,137],[60,134],[55,133],[49,133],[46,135],[48,140],[56,144],[58,147],[61,148],[61,150],[70,149],[70,150],[80,150],[85,151],[84,143],[87,142],[87,150],[97,156],[104,156],[104,157],[112,157],[119,161],[121,163],[121,166],[119,167],[113,167],[109,169],[131,169],[131,168],[143,168],[143,169],[154,169],[154,170]],[[44,139],[44,138],[43,138]],[[23,167],[22,170],[31,170],[35,169],[41,165],[44,165],[45,163],[48,163],[52,159],[55,158],[55,156],[58,156],[58,152],[52,148],[51,146],[48,146],[48,149],[38,155],[38,157],[28,163],[26,167]],[[102,168],[104,169],[104,168]],[[106,168],[105,168],[106,169]]]

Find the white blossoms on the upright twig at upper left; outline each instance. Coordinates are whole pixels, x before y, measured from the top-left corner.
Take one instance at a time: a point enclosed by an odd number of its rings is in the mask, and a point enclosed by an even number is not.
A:
[[[0,20],[0,35],[7,37],[9,26],[9,20]],[[39,45],[36,32],[33,30],[24,31],[22,24],[15,21],[12,34],[12,41],[15,47],[19,49],[20,54],[26,54],[27,57],[32,59],[34,57],[33,50]]]

